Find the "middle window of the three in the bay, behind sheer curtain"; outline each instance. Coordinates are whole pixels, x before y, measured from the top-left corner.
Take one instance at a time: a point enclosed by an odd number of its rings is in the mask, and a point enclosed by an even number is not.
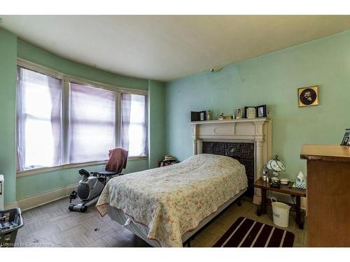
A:
[[[116,140],[116,93],[71,83],[69,161],[108,159]]]

